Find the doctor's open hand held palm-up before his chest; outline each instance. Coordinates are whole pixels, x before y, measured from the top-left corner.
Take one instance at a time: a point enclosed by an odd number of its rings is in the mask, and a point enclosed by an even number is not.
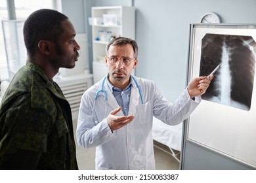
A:
[[[121,110],[121,107],[112,110],[110,114],[108,114],[107,122],[112,131],[117,130],[129,123],[131,123],[134,119],[134,116],[116,116],[116,114]]]

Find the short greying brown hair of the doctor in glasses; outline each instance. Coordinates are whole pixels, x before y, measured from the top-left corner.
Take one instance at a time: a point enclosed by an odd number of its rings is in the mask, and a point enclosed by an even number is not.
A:
[[[133,52],[134,52],[135,58],[138,58],[137,42],[127,37],[117,37],[115,39],[112,39],[112,41],[108,42],[106,46],[106,56],[108,56],[108,50],[110,49],[111,45],[115,46],[115,45],[125,45],[125,44],[131,44],[131,46],[133,46]]]

